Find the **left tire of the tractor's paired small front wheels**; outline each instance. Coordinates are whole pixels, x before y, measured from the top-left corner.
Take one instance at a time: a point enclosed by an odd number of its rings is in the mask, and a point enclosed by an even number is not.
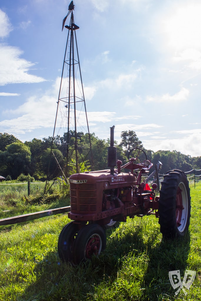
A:
[[[58,254],[62,261],[72,261],[73,244],[78,231],[78,225],[74,224],[73,221],[69,222],[61,230],[58,238]]]

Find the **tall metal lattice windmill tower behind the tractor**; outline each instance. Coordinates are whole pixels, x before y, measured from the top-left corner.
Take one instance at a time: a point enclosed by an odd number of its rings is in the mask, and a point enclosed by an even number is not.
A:
[[[65,171],[62,171],[62,173],[63,175],[65,174],[66,177],[69,176],[68,164],[69,162],[71,162],[71,160],[73,160],[76,166],[76,173],[80,171],[80,164],[84,164],[87,170],[85,162],[86,160],[88,160],[88,158],[91,159],[93,165],[89,124],[86,113],[86,104],[76,38],[76,30],[79,29],[79,26],[74,23],[74,8],[75,6],[73,4],[73,1],[71,1],[68,7],[68,14],[64,18],[62,24],[62,31],[64,27],[68,29],[68,36],[64,54],[64,62],[51,147],[51,154],[55,157],[53,147],[55,132],[56,129],[59,129],[57,133],[58,135],[61,132],[61,129],[63,129],[66,143],[66,167]],[[65,22],[69,15],[69,25],[65,26]],[[88,135],[88,147],[79,145],[79,133],[85,133]],[[73,145],[72,140],[74,141]],[[57,162],[57,165],[58,168],[60,168],[59,162]]]

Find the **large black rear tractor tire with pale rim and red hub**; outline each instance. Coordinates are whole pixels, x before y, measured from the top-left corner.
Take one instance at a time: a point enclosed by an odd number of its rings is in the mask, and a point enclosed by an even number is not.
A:
[[[190,224],[190,188],[185,173],[173,169],[164,175],[159,197],[160,231],[165,238],[183,237]]]

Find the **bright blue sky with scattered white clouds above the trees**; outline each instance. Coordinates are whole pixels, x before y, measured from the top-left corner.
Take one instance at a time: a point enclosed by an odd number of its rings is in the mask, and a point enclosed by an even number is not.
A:
[[[70,0],[1,0],[0,132],[52,136]],[[201,3],[75,0],[90,132],[201,156]],[[67,24],[68,24],[67,19]],[[59,135],[63,133],[59,132]]]

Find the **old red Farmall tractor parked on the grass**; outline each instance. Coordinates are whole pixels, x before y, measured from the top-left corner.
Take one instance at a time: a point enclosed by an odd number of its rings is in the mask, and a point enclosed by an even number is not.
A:
[[[128,162],[122,165],[117,160],[114,128],[110,128],[109,169],[70,176],[68,217],[72,221],[64,226],[58,239],[58,254],[65,262],[79,264],[98,256],[106,246],[106,225],[126,222],[127,216],[155,215],[166,238],[182,237],[188,230],[190,189],[184,172],[168,171],[160,195],[156,196],[157,184],[152,184],[151,189],[141,181],[153,164],[138,148],[130,151]],[[126,172],[121,172],[122,169]]]

